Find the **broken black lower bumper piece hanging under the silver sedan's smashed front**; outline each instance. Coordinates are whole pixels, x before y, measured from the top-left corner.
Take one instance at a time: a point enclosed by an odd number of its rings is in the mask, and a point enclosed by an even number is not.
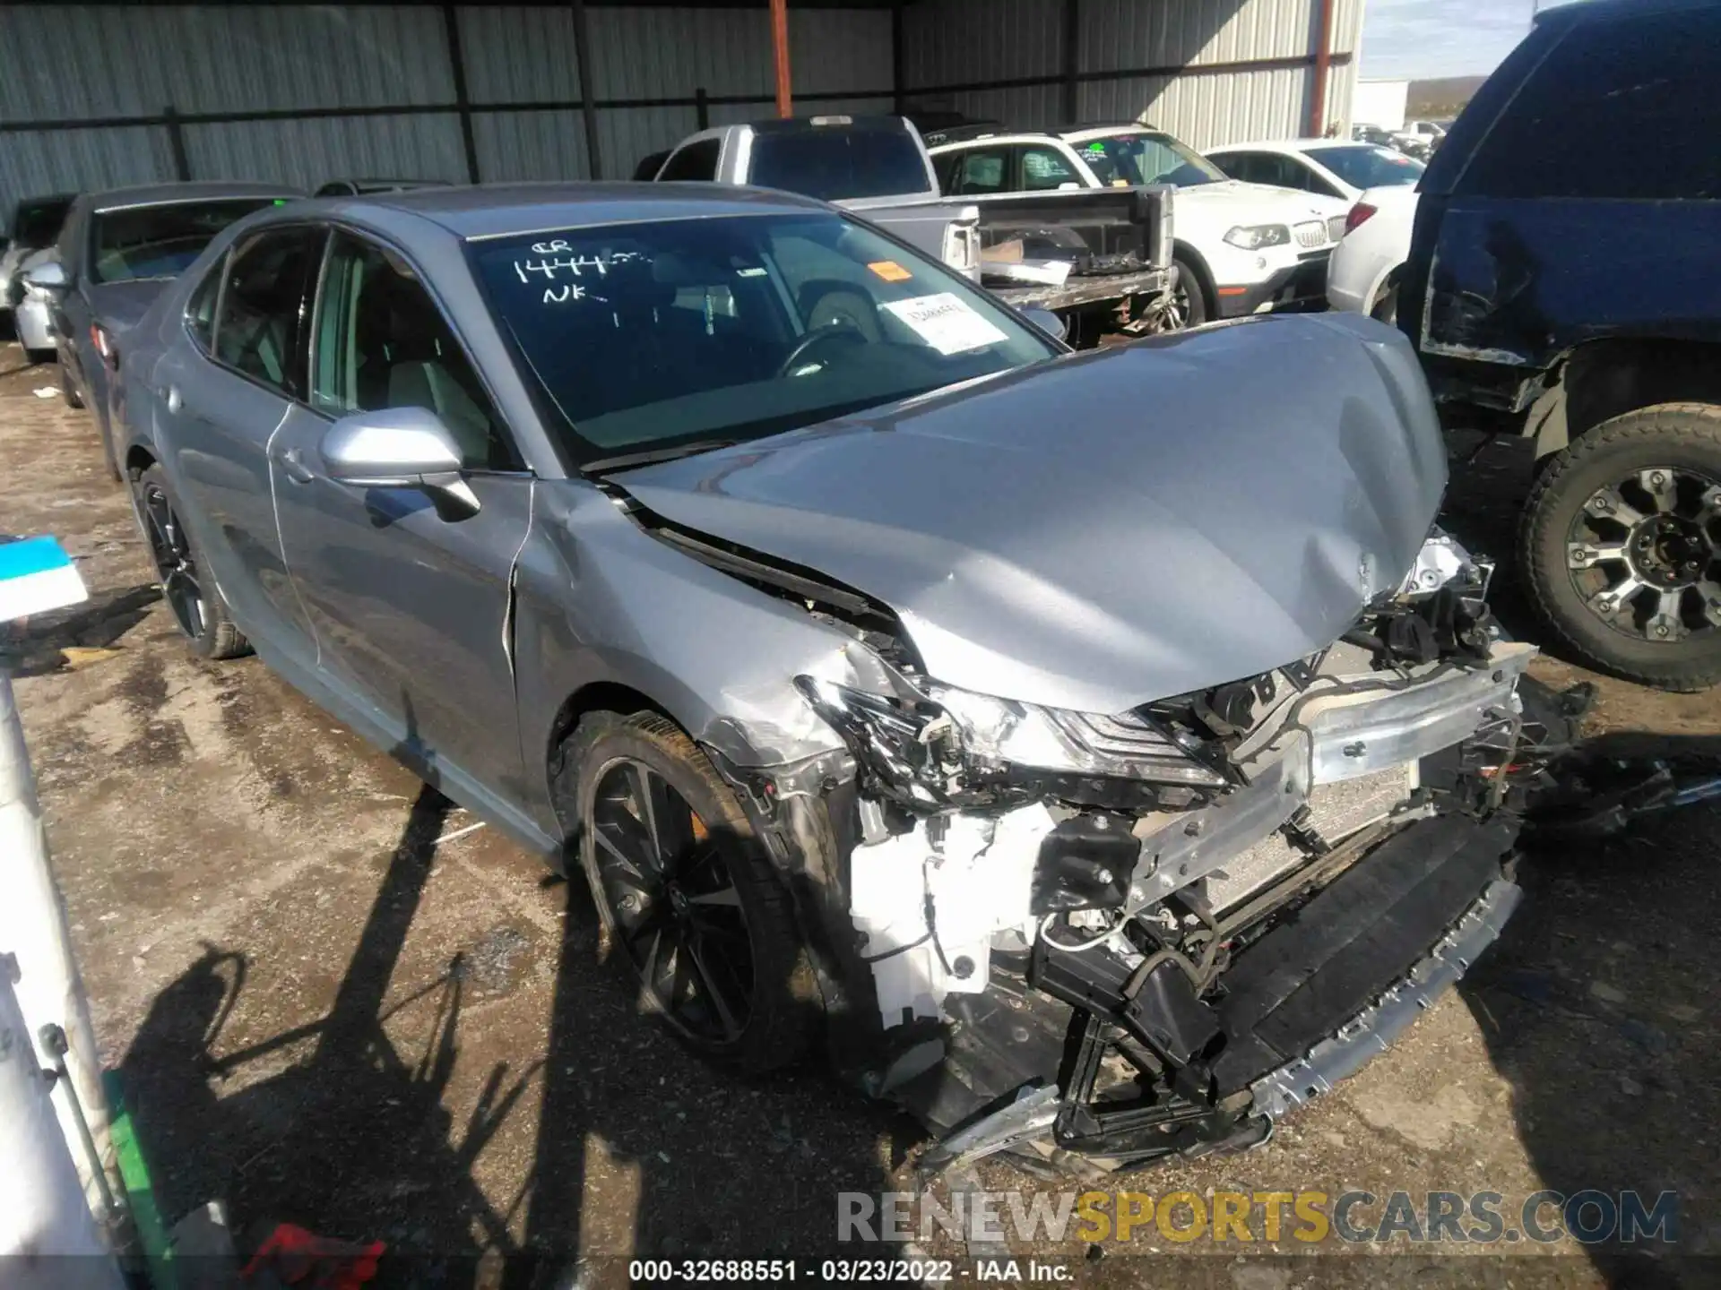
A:
[[[1000,1109],[929,1149],[921,1170],[940,1173],[1005,1151],[1052,1164],[1079,1156],[1101,1170],[1131,1170],[1263,1142],[1282,1115],[1384,1051],[1492,944],[1520,898],[1501,870],[1514,836],[1504,822],[1442,817],[1379,841],[1296,920],[1239,956],[1225,977],[1227,998],[1213,1008],[1212,1025],[1225,1042],[1210,1065],[1181,1049],[1175,1027],[1108,999],[1098,977],[1084,998],[1072,999],[1069,979],[1053,980],[1036,961],[1026,984],[1064,996],[1058,1082],[1033,1077],[1027,1063],[1045,1049],[1024,1044],[1024,1082],[995,1099]],[[1363,908],[1375,917],[1360,918]],[[1406,944],[1427,946],[1408,970]],[[1026,1034],[1021,1010],[1002,1010],[993,1020]],[[1034,1020],[1041,1030],[1055,1025],[1043,1010]],[[979,1034],[984,1025],[986,1018],[965,1015],[952,1068],[996,1082],[1000,1053],[1009,1047]],[[1101,1072],[1115,1068],[1119,1056],[1139,1060],[1150,1037],[1162,1054],[1184,1060],[1170,1073],[1170,1096],[1127,1099],[1117,1085],[1101,1089]]]

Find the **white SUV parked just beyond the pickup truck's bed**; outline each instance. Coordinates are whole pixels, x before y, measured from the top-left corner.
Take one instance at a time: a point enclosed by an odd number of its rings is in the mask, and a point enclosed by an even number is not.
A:
[[[1174,184],[1177,310],[1187,325],[1325,301],[1348,203],[1243,184],[1146,126],[972,134],[931,150],[945,196]]]

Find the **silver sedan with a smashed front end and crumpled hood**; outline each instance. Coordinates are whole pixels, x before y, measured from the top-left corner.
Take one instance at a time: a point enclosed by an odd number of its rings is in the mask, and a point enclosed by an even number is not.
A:
[[[217,237],[119,409],[196,652],[583,870],[694,1049],[817,1044],[935,1161],[1260,1142],[1518,898],[1533,650],[1366,318],[1070,354],[817,201],[425,189]]]

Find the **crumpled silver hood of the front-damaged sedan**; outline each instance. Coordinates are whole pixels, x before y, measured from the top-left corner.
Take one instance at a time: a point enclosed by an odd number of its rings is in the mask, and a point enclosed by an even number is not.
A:
[[[1306,315],[1067,356],[614,482],[883,600],[941,681],[1120,712],[1330,645],[1415,559],[1446,451],[1404,337]]]

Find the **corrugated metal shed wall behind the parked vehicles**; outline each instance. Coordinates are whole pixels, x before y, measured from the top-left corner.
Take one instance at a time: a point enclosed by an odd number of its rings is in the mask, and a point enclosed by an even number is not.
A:
[[[793,91],[802,110],[1017,126],[1144,115],[1196,146],[1291,136],[1348,124],[1361,17],[1363,0],[790,0]],[[773,101],[764,0],[0,5],[0,203],[174,177],[626,177]]]

